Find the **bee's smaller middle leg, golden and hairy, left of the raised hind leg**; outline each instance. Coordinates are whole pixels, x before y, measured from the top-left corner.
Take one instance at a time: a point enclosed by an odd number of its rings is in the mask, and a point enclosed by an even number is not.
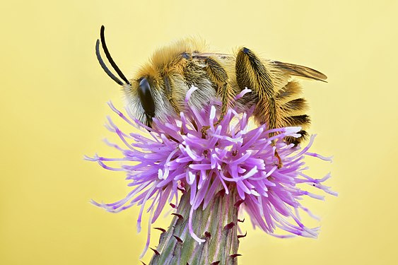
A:
[[[228,74],[223,66],[218,63],[218,61],[212,57],[207,57],[205,60],[206,63],[206,71],[211,80],[216,85],[217,93],[219,98],[221,98],[221,113],[220,118],[214,124],[217,126],[223,120],[223,117],[226,115],[228,111],[228,107],[232,105],[233,97],[235,96],[234,90],[230,83],[228,83]],[[204,126],[201,129],[203,135],[206,135],[206,131],[210,128],[210,126]]]

